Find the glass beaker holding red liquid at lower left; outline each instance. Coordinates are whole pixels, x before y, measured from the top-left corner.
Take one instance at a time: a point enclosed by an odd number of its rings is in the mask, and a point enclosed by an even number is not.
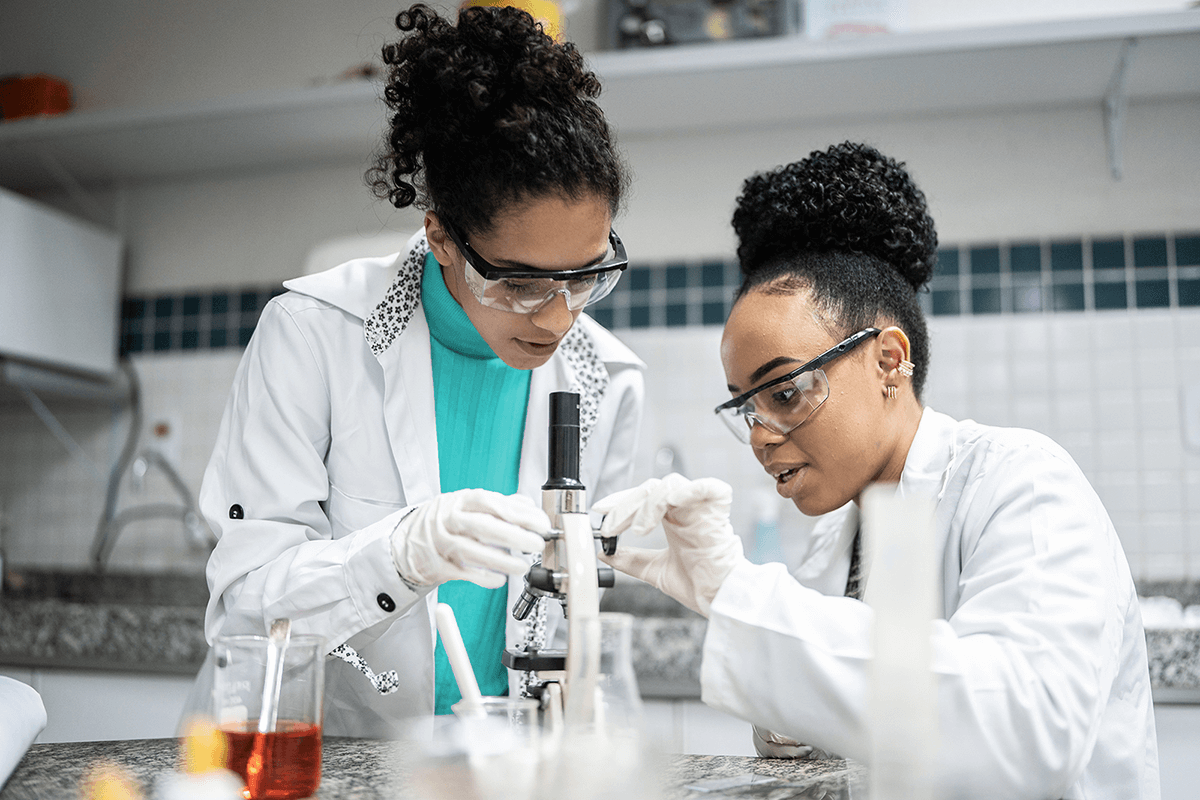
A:
[[[262,734],[268,638],[220,636],[212,644],[212,716],[226,734],[226,766],[246,781],[252,800],[308,798],[320,784],[322,644],[319,636],[290,637],[283,651],[275,730]],[[263,771],[251,782],[247,762],[256,748]]]

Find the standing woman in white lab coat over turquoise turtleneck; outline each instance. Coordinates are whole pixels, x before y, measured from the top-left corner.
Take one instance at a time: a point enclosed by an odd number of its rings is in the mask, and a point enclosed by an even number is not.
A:
[[[509,577],[550,525],[548,395],[581,396],[593,492],[629,485],[641,420],[643,365],[581,313],[625,265],[612,219],[626,176],[595,77],[514,8],[452,24],[413,6],[396,23],[388,146],[368,178],[424,209],[425,228],[404,252],[284,284],[200,492],[218,536],[209,640],[276,618],[324,637],[341,658],[326,664],[329,735],[392,735],[457,699],[438,600],[484,692],[508,693],[504,646],[541,643],[558,610],[509,613],[523,587]]]

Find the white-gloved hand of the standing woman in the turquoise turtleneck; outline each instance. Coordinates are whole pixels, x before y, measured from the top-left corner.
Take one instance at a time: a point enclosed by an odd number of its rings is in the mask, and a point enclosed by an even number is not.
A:
[[[509,553],[540,553],[550,517],[529,498],[486,489],[439,494],[410,511],[391,534],[391,558],[414,587],[470,581],[485,589],[504,585],[528,564]]]

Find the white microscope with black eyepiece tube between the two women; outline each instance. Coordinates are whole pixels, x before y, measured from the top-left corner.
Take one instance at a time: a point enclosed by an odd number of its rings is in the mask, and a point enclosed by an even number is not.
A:
[[[595,540],[605,553],[617,552],[617,539],[593,531],[588,517],[587,489],[580,482],[580,396],[550,396],[548,479],[541,487],[542,510],[552,530],[546,535],[541,563],[526,575],[521,599],[512,615],[524,620],[539,601],[557,600],[568,622],[568,646],[524,650],[509,648],[502,662],[510,669],[532,673],[527,693],[540,700],[547,728],[588,724],[595,715],[595,691],[600,674],[600,589],[613,585],[612,567],[598,564]]]

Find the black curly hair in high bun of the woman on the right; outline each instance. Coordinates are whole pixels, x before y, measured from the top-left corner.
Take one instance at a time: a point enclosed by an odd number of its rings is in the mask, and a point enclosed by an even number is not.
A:
[[[937,264],[925,196],[904,164],[845,142],[746,179],[733,212],[742,287],[809,291],[838,339],[888,323],[908,336],[920,399],[929,332],[917,293]]]

